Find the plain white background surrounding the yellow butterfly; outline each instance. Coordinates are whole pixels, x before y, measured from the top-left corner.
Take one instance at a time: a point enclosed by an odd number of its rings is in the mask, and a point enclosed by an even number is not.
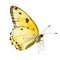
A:
[[[10,6],[15,5],[27,12],[42,32],[57,32],[43,37],[45,50],[38,53],[35,43],[27,50],[19,51],[11,45],[9,33],[13,24]],[[1,0],[0,1],[0,60],[60,60],[60,0]]]

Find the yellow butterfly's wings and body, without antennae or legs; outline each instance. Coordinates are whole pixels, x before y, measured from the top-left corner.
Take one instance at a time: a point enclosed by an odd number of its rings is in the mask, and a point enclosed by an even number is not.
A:
[[[10,14],[14,28],[10,32],[10,40],[18,50],[25,50],[39,42],[43,34],[31,17],[17,6],[10,7]]]

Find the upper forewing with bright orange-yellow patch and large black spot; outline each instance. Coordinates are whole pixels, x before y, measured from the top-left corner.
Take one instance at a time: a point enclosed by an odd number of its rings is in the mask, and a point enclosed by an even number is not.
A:
[[[31,29],[36,34],[39,33],[38,28],[36,24],[34,23],[34,21],[22,9],[16,6],[11,6],[10,13],[11,13],[11,17],[13,19],[12,21],[15,27],[24,27],[27,29]]]

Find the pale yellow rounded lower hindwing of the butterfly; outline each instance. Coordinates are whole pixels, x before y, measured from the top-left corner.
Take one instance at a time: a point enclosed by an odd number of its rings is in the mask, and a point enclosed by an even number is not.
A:
[[[27,28],[17,27],[12,30],[10,39],[17,49],[24,50],[35,43],[37,36],[35,32]]]

